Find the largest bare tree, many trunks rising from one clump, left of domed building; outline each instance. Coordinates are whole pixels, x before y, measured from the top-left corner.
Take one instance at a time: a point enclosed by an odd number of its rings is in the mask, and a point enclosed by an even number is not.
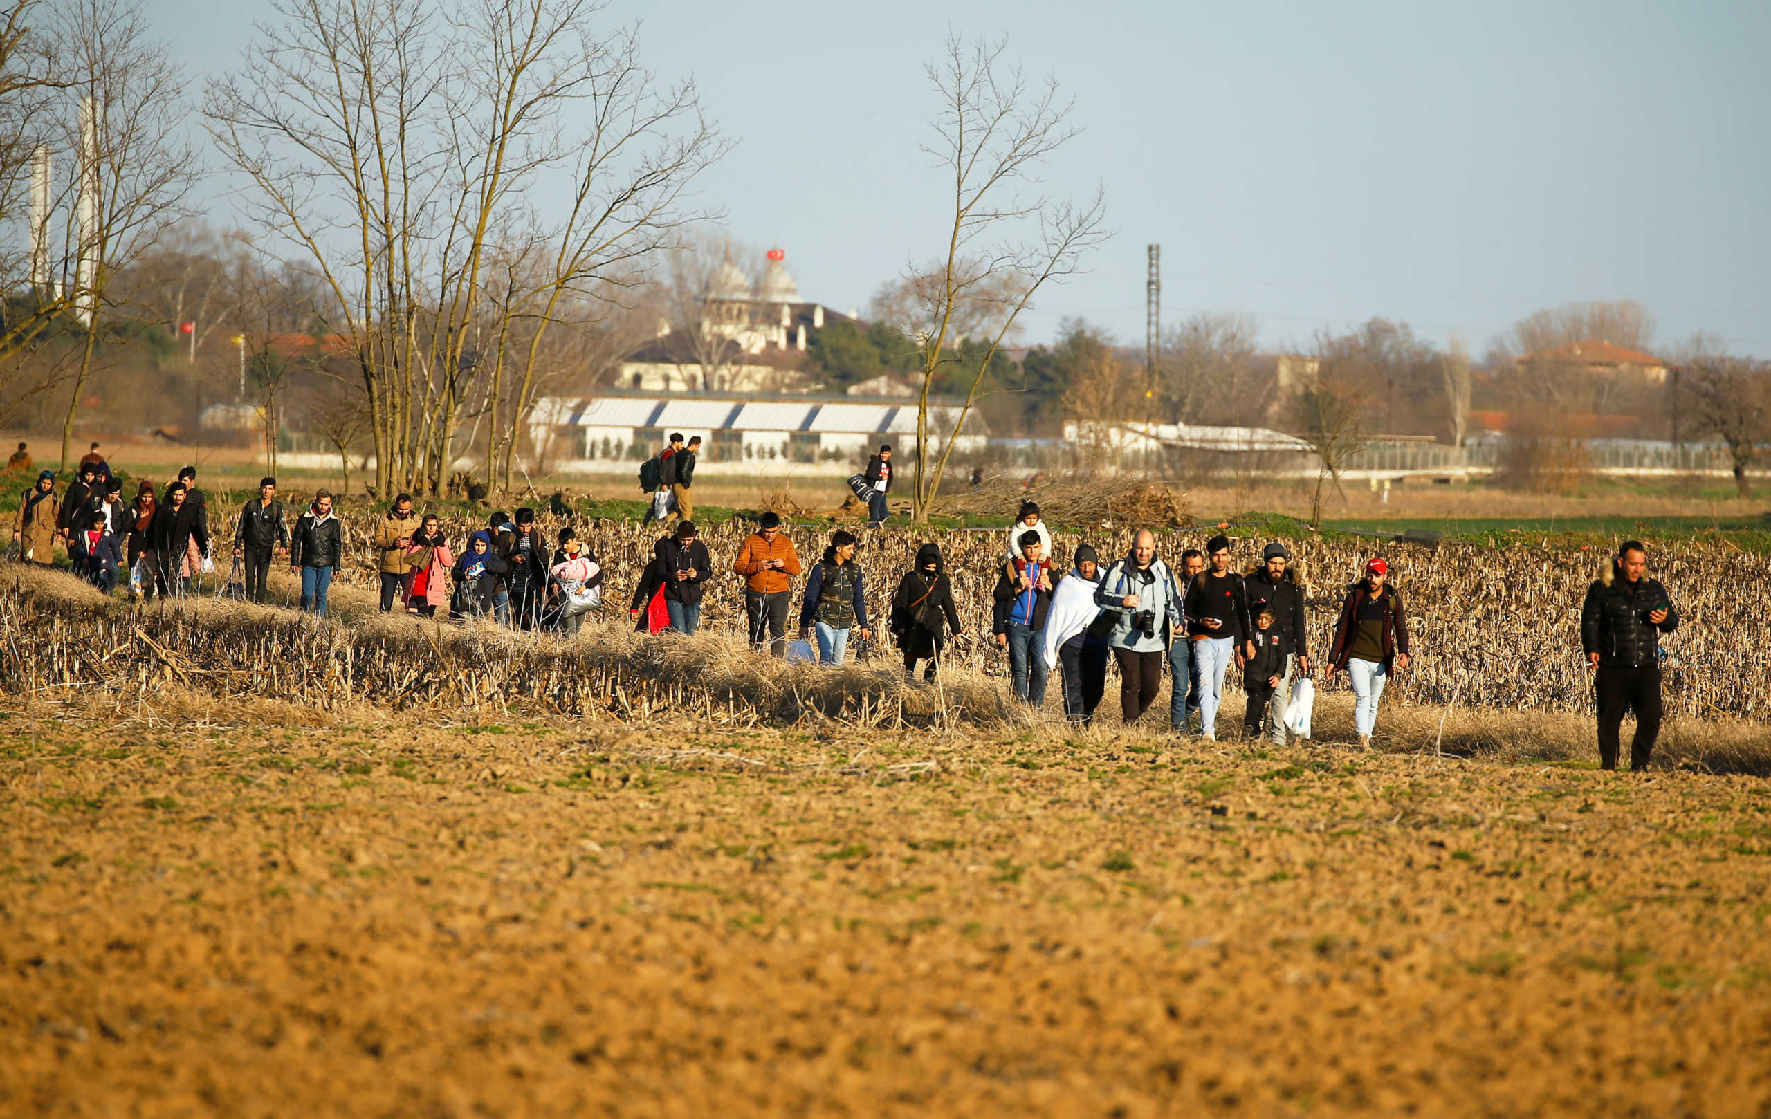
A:
[[[551,308],[627,280],[721,150],[692,85],[659,87],[634,34],[600,25],[604,7],[282,0],[246,71],[209,87],[211,133],[251,182],[257,221],[326,289],[322,317],[352,352],[381,487],[437,489],[483,351],[519,313],[537,319],[517,374],[524,413]],[[574,202],[549,227],[533,197],[560,186]],[[494,276],[510,230],[551,246],[540,287],[519,290],[512,269]]]

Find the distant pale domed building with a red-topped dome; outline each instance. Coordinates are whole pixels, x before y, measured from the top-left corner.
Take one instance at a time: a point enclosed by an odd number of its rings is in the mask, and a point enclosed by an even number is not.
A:
[[[852,320],[799,297],[786,253],[769,250],[756,287],[730,250],[696,303],[694,335],[666,326],[622,361],[616,384],[650,393],[783,393],[804,388],[806,343],[827,322]]]

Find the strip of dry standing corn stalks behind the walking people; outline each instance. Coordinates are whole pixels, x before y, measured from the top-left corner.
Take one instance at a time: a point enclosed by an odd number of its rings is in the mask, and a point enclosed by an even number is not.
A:
[[[352,526],[356,540],[367,540],[368,519]],[[471,524],[450,524],[457,536],[466,535]],[[553,531],[549,521],[547,529]],[[737,696],[737,708],[742,717],[785,717],[806,708],[808,694],[820,694],[820,710],[834,715],[864,714],[866,719],[882,719],[882,706],[889,705],[896,712],[900,701],[916,708],[916,719],[924,724],[937,717],[933,712],[949,703],[951,696],[928,699],[921,689],[901,687],[891,680],[891,666],[896,662],[886,639],[875,641],[877,660],[884,668],[861,675],[843,676],[834,683],[825,676],[806,673],[783,673],[779,666],[749,660],[740,643],[746,630],[742,581],[730,572],[744,535],[744,524],[717,524],[703,531],[717,577],[708,586],[703,611],[703,627],[710,637],[723,637],[723,644],[703,643],[707,648],[698,655],[682,655],[678,668],[694,664],[694,671],[680,680],[659,680],[648,666],[652,660],[638,657],[636,644],[622,630],[629,597],[638,583],[639,572],[652,554],[652,547],[661,536],[659,529],[641,529],[632,522],[600,521],[581,524],[579,531],[590,540],[592,549],[607,568],[607,597],[604,616],[607,625],[590,627],[593,634],[581,643],[581,648],[599,650],[592,662],[638,664],[639,675],[634,687],[648,692],[657,685],[685,687],[707,685],[715,699],[731,706]],[[1169,531],[1158,533],[1158,545],[1164,556],[1176,560],[1185,547],[1199,547],[1206,531]],[[824,547],[824,529],[793,528],[790,535],[806,563],[816,560]],[[1132,528],[1103,528],[1086,536],[1059,533],[1057,549],[1063,558],[1073,552],[1075,545],[1087,540],[1103,558],[1123,554],[1130,544]],[[898,579],[909,570],[916,547],[924,540],[940,544],[947,558],[947,572],[953,579],[955,598],[960,609],[963,630],[956,634],[949,646],[949,691],[965,696],[969,715],[965,719],[983,719],[995,722],[1011,717],[1001,694],[1001,678],[1006,671],[1004,657],[990,641],[990,600],[995,584],[995,568],[1006,552],[1006,531],[930,531],[910,533],[903,529],[873,531],[862,535],[859,561],[866,574],[868,593],[875,621],[887,609],[891,593]],[[1362,568],[1369,549],[1344,542],[1300,540],[1289,544],[1298,568],[1303,572],[1307,598],[1311,606],[1311,644],[1321,657],[1330,643],[1334,621],[1348,583]],[[1238,554],[1245,560],[1240,567],[1252,567],[1257,554],[1257,540],[1238,540]],[[1392,563],[1394,581],[1401,590],[1413,630],[1415,660],[1408,671],[1399,673],[1390,683],[1387,696],[1427,706],[1477,706],[1477,708],[1514,708],[1580,714],[1592,705],[1592,685],[1585,662],[1580,655],[1580,604],[1587,586],[1597,575],[1601,560],[1587,551],[1546,549],[1514,545],[1505,549],[1465,549],[1447,547],[1431,551],[1413,545],[1387,545],[1383,549]],[[365,545],[352,549],[354,567],[345,572],[344,581],[335,584],[333,607],[347,623],[324,643],[296,634],[287,637],[292,646],[303,648],[305,655],[328,659],[326,673],[336,682],[344,682],[347,691],[335,698],[349,696],[402,696],[407,689],[425,701],[446,696],[453,701],[492,699],[508,703],[522,698],[553,705],[558,710],[583,712],[588,706],[615,706],[620,712],[634,710],[625,699],[630,691],[625,682],[615,680],[607,673],[597,678],[574,676],[584,664],[560,664],[545,671],[537,669],[537,662],[549,660],[547,639],[499,637],[476,639],[471,652],[457,655],[453,660],[443,650],[457,643],[455,630],[434,627],[429,637],[416,637],[418,629],[411,625],[384,627],[375,620],[374,607],[374,570]],[[1674,655],[1667,675],[1667,710],[1672,715],[1702,719],[1739,717],[1764,719],[1771,712],[1771,696],[1760,682],[1771,680],[1771,644],[1762,641],[1764,618],[1771,614],[1771,561],[1764,556],[1727,549],[1720,544],[1684,545],[1675,554],[1656,554],[1654,574],[1661,577],[1679,606],[1682,623],[1665,644]],[[92,611],[74,611],[69,614],[67,604],[76,591],[48,590],[53,575],[12,574],[0,586],[12,588],[14,598],[21,604],[12,609],[37,609],[44,614],[67,614],[67,625],[94,627]],[[802,586],[804,581],[800,581]],[[57,584],[58,586],[58,584]],[[283,602],[292,602],[292,584],[278,575]],[[28,606],[23,606],[27,604]],[[207,606],[204,609],[209,609]],[[797,602],[795,602],[797,616]],[[232,687],[236,678],[227,675],[228,664],[236,669],[244,666],[266,668],[278,662],[275,643],[266,639],[267,632],[292,632],[294,621],[273,621],[273,614],[253,614],[266,618],[250,625],[223,627],[209,653],[216,664],[214,671],[191,676],[207,687]],[[287,616],[283,616],[287,618]],[[400,620],[397,620],[400,621]],[[184,637],[195,639],[202,629],[191,621],[189,630],[181,630]],[[67,634],[69,641],[80,644],[80,637],[71,630],[55,629],[51,634]],[[234,632],[230,637],[228,634]],[[331,630],[328,630],[331,632]],[[177,634],[175,634],[177,636]],[[184,639],[179,637],[179,639]],[[90,636],[87,644],[103,644],[96,652],[106,653],[113,644],[113,634]],[[198,643],[202,644],[202,643]],[[253,653],[244,652],[251,644]],[[358,644],[367,644],[363,657],[358,657]],[[193,655],[191,650],[181,650]],[[4,648],[0,648],[0,655]],[[237,660],[237,657],[248,657]],[[282,659],[283,662],[287,660]],[[223,664],[228,662],[228,664]],[[78,680],[108,678],[103,673],[87,673],[78,648],[25,650],[21,668],[14,675],[21,682],[34,682],[39,687],[67,687]],[[462,669],[462,666],[469,666]],[[655,668],[655,666],[653,666]],[[705,668],[705,671],[703,671]],[[269,669],[273,678],[289,676],[292,666]],[[464,675],[466,671],[466,675]],[[613,669],[611,669],[613,671]],[[83,675],[85,673],[85,675]],[[312,687],[319,669],[301,676],[303,687]],[[299,676],[299,673],[296,673]],[[1231,673],[1231,691],[1240,680]],[[613,682],[613,683],[611,683]],[[1339,678],[1332,689],[1344,687]],[[838,692],[841,694],[838,703]],[[781,699],[779,694],[786,694]],[[296,698],[289,694],[285,698]],[[646,698],[639,703],[641,714],[659,703],[677,703],[682,692],[675,691],[668,698]],[[832,703],[836,703],[832,706]],[[1056,701],[1054,701],[1056,705]],[[739,717],[739,715],[733,715]]]

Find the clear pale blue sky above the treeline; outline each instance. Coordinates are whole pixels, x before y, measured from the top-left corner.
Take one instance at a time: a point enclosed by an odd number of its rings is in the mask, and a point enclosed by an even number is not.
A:
[[[197,74],[232,66],[266,0],[147,0]],[[864,305],[940,246],[917,150],[923,62],[947,30],[1009,34],[1086,133],[1050,184],[1103,182],[1118,237],[1043,296],[1144,336],[1241,310],[1268,345],[1371,315],[1442,342],[1541,306],[1640,299],[1656,340],[1697,329],[1771,356],[1771,4],[1178,4],[616,0],[646,58],[692,74],[739,140],[701,198],[779,244],[808,299]]]

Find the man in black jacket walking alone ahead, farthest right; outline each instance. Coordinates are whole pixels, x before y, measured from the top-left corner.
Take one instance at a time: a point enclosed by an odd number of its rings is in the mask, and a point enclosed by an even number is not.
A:
[[[1659,636],[1679,627],[1667,588],[1645,579],[1649,552],[1629,540],[1587,588],[1580,607],[1580,648],[1594,668],[1599,706],[1599,768],[1615,770],[1624,712],[1636,715],[1629,768],[1642,772],[1654,752],[1661,721]]]

